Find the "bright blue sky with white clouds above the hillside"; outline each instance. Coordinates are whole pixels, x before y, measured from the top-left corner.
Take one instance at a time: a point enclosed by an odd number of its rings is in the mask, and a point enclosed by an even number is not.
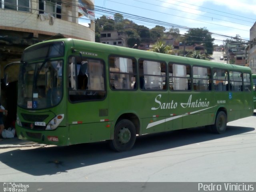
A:
[[[96,18],[111,18],[119,12],[138,25],[160,25],[166,30],[174,26],[180,34],[187,28],[206,28],[214,33],[212,38],[218,45],[236,35],[250,40],[250,28],[256,22],[256,0],[95,0],[94,6]]]

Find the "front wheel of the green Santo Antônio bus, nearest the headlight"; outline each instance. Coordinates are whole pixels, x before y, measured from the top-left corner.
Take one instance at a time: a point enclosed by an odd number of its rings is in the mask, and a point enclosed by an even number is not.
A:
[[[110,147],[118,152],[130,150],[136,140],[136,128],[127,119],[120,120],[114,129],[114,139],[110,140]]]

